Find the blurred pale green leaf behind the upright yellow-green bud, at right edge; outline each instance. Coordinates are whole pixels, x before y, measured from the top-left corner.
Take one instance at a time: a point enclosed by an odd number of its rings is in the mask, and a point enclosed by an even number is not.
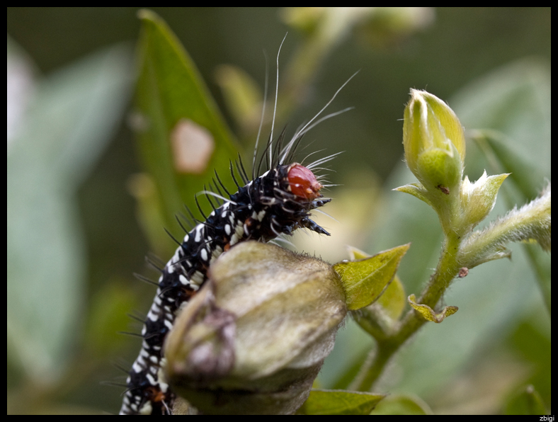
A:
[[[521,157],[521,166],[537,169],[540,180],[533,181],[534,175],[528,180],[535,185],[531,189],[538,190],[551,169],[551,92],[550,64],[533,58],[520,59],[472,81],[452,98],[451,105],[465,126],[466,135],[477,129],[500,132],[506,147],[506,155],[501,158],[510,164],[512,156]],[[497,145],[494,147],[498,149]],[[482,155],[473,144],[467,144],[469,178],[486,168]],[[493,169],[493,173],[502,172]]]

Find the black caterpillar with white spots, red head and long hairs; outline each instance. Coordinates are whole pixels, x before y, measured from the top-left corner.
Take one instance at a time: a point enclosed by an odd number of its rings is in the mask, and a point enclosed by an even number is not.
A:
[[[175,395],[166,384],[161,369],[164,366],[164,339],[172,329],[175,314],[181,305],[188,302],[205,282],[212,261],[241,241],[254,239],[266,242],[283,234],[292,234],[299,228],[329,236],[324,228],[310,219],[312,210],[331,201],[320,193],[324,185],[312,170],[320,169],[321,164],[333,159],[337,154],[326,156],[307,166],[293,162],[293,157],[300,139],[306,132],[326,118],[346,111],[331,113],[317,120],[343,86],[312,120],[295,132],[284,147],[284,130],[273,145],[276,88],[271,135],[257,169],[259,135],[256,139],[251,180],[241,161],[237,161],[237,172],[244,185],[238,183],[231,165],[232,178],[238,188],[237,193],[231,195],[215,173],[219,185],[229,198],[213,192],[203,192],[208,199],[210,196],[217,197],[221,205],[213,206],[213,211],[207,219],[186,233],[173,257],[161,269],[154,302],[142,328],[142,348],[128,372],[127,389],[120,414],[171,414]],[[256,173],[259,173],[263,156],[266,156],[269,170],[255,177]],[[214,184],[220,191],[219,185]],[[212,204],[211,200],[210,203]]]

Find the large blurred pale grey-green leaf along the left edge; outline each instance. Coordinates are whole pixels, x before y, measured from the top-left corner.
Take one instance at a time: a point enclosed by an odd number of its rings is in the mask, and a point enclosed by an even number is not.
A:
[[[79,338],[86,262],[75,191],[122,117],[129,59],[111,47],[40,81],[8,149],[8,361],[45,383]]]

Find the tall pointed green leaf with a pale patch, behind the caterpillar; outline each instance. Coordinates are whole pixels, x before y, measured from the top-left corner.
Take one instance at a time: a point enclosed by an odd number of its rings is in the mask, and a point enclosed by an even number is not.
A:
[[[139,11],[139,18],[142,34],[135,115],[139,152],[159,193],[164,220],[174,227],[176,212],[183,204],[196,208],[195,193],[210,183],[214,169],[227,172],[237,148],[176,35],[152,11]],[[205,153],[190,163],[188,159],[200,151]],[[227,188],[236,190],[230,178],[223,179]],[[205,201],[202,206],[209,208]]]

